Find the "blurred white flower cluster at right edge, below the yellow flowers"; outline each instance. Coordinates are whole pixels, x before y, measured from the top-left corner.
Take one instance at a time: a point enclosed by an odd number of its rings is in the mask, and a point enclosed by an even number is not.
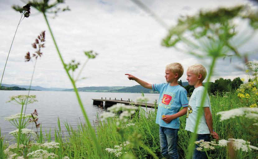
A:
[[[236,108],[228,111],[218,112],[217,115],[221,115],[220,121],[227,120],[235,117],[246,117],[250,119],[258,120],[258,108]]]

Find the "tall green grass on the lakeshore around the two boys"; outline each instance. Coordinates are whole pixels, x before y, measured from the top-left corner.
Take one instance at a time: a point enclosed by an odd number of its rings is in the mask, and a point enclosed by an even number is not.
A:
[[[246,118],[231,118],[228,120],[220,121],[219,116],[216,113],[220,111],[226,111],[233,108],[239,108],[246,106],[246,103],[241,101],[237,97],[237,93],[229,93],[225,96],[210,96],[213,114],[213,128],[218,132],[220,139],[236,138],[244,139],[251,142],[251,145],[258,146],[257,136],[252,134],[250,130],[257,131],[257,126],[248,126],[250,122]],[[108,153],[106,148],[114,148],[115,145],[120,145],[122,142],[128,140],[130,137],[137,133],[141,136],[141,143],[136,144],[133,147],[126,148],[127,154],[134,156],[134,158],[144,159],[153,158],[150,154],[155,153],[157,157],[162,158],[159,146],[159,125],[155,123],[156,110],[148,111],[146,113],[145,108],[140,108],[140,111],[132,117],[128,123],[134,123],[135,125],[118,129],[116,121],[119,118],[108,119],[101,121],[98,119],[94,123],[96,137],[100,143],[103,155],[106,158],[122,158],[115,157],[114,154]],[[188,146],[190,143],[190,133],[185,129],[185,116],[180,118],[180,130],[178,132],[178,150],[180,158],[186,158]],[[242,124],[240,124],[240,123]],[[63,135],[60,128],[60,121],[57,121],[58,127],[54,130],[54,141],[59,142],[58,149],[50,150],[59,156],[59,158],[68,156],[70,158],[86,159],[86,158],[100,158],[95,142],[91,138],[91,132],[84,121],[80,121],[77,127],[72,127],[65,122],[67,136]],[[248,128],[245,128],[248,126]],[[48,132],[45,130],[45,135],[40,128],[38,133],[37,142],[51,142],[51,130]],[[122,135],[121,135],[122,134]],[[1,134],[0,134],[1,135]],[[0,140],[0,151],[3,151],[4,145]],[[31,147],[31,151],[39,149],[38,147]],[[211,158],[229,158],[228,147],[220,147],[214,151],[208,152]],[[258,151],[242,152],[240,150],[235,151],[235,158],[255,158],[258,156]]]

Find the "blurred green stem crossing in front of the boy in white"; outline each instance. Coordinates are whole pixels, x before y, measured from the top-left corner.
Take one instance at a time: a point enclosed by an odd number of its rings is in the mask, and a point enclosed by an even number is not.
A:
[[[213,68],[215,66],[216,59],[217,59],[217,57],[213,57],[213,60],[212,60],[211,66],[210,66],[209,76],[208,76],[207,82],[206,82],[205,87],[204,87],[204,92],[202,94],[201,106],[199,107],[198,113],[197,113],[197,119],[196,119],[196,125],[195,125],[195,129],[194,129],[194,133],[192,133],[192,136],[191,136],[191,139],[190,139],[190,144],[189,144],[189,147],[188,147],[187,159],[190,159],[192,157],[192,154],[193,154],[193,151],[194,151],[194,146],[195,146],[194,142],[195,142],[196,137],[197,137],[196,132],[198,130],[198,125],[199,125],[200,119],[201,119],[202,114],[203,114],[203,109],[202,108],[203,108],[203,105],[204,105],[204,100],[205,100],[205,96],[206,96],[206,93],[207,93],[207,88],[209,87],[209,81],[210,81],[210,78],[211,78],[211,75],[212,75],[212,72],[213,72]]]

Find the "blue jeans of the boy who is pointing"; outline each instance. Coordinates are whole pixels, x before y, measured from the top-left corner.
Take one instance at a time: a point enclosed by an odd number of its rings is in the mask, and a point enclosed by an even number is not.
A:
[[[169,159],[178,159],[177,151],[178,129],[159,127],[159,142],[161,154]]]

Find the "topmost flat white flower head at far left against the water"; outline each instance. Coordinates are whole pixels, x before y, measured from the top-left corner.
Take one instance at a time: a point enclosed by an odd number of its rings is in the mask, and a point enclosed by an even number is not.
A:
[[[25,105],[25,104],[31,104],[34,102],[37,102],[37,100],[35,99],[36,96],[35,95],[16,95],[16,96],[11,96],[9,97],[10,100],[8,100],[6,103],[10,102],[14,102],[13,104],[18,104],[18,105]]]

